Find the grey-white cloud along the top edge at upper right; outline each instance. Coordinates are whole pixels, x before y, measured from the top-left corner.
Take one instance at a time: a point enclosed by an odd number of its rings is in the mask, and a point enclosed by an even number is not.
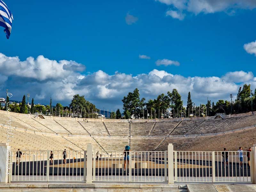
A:
[[[173,18],[184,18],[183,12],[191,12],[194,14],[215,13],[224,11],[229,15],[233,15],[236,9],[254,9],[256,1],[253,0],[155,0],[170,6],[177,11],[167,11],[166,15]],[[182,20],[182,19],[180,19]]]

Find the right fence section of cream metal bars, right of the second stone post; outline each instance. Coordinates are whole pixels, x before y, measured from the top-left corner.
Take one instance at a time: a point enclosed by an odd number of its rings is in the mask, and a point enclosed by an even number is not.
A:
[[[174,181],[251,182],[252,152],[174,151]]]

